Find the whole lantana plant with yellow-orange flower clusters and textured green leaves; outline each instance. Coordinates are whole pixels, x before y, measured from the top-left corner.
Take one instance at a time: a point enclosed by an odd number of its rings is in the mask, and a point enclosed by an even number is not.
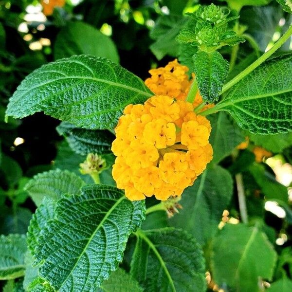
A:
[[[65,5],[41,2],[47,16]],[[162,16],[177,50],[169,53],[164,31],[165,48],[151,48],[157,59],[170,57],[153,63],[145,80],[118,64],[110,39],[112,58],[85,46],[84,54],[56,57],[23,79],[6,122],[37,112],[60,120],[67,154],[58,155],[68,160],[59,169],[56,158],[55,169],[24,183],[37,209],[26,236],[0,237],[5,291],[256,292],[284,273],[269,227],[249,221],[244,184],[255,180],[291,217],[287,189],[262,175],[263,160],[273,156],[263,146],[271,142],[256,139],[292,131],[292,54],[276,53],[292,26],[260,53],[240,23],[241,8],[253,1],[226,2],[192,6],[179,24]],[[292,13],[290,1],[278,2]],[[154,35],[159,29],[157,21]],[[61,33],[66,39],[69,31]],[[58,52],[62,37],[56,42]],[[253,55],[238,62],[244,42]],[[71,167],[76,155],[82,159]],[[217,165],[226,157],[228,170]],[[233,187],[237,214],[226,210]],[[15,290],[23,276],[23,290]]]

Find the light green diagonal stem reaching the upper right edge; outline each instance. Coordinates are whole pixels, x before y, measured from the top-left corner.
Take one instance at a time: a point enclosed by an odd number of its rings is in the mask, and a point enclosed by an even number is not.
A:
[[[286,33],[279,38],[279,40],[274,44],[274,46],[265,54],[261,55],[253,64],[248,66],[245,70],[243,70],[241,73],[239,73],[237,76],[235,76],[232,80],[230,80],[228,83],[226,83],[223,88],[222,92],[224,93],[229,88],[237,84],[238,81],[240,81],[242,78],[244,78],[246,75],[254,71],[259,65],[261,65],[267,58],[269,58],[271,55],[274,54],[276,50],[278,50],[286,41],[287,39],[292,35],[292,25],[288,28]]]

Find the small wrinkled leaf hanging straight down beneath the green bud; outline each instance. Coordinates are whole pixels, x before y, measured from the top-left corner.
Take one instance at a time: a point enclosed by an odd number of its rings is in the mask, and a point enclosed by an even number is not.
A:
[[[218,100],[228,74],[229,63],[218,52],[199,51],[193,56],[194,72],[204,102]]]

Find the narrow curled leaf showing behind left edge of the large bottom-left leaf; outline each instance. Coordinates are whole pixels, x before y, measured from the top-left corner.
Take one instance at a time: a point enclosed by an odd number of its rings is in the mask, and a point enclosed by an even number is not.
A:
[[[48,220],[54,219],[55,207],[55,201],[51,198],[44,197],[30,221],[27,233],[27,245],[32,255],[36,254],[37,239],[40,237],[41,230],[45,228]]]

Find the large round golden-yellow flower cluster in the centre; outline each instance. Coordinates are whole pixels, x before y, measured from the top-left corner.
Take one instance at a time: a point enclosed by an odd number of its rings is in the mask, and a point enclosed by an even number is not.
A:
[[[128,105],[115,128],[112,175],[128,199],[180,196],[212,159],[209,121],[191,103],[155,95]]]

